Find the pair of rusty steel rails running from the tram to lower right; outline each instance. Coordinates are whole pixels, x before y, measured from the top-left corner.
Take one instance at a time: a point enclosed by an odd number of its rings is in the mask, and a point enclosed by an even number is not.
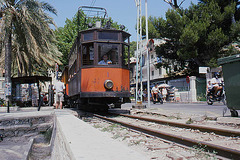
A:
[[[168,141],[172,141],[178,144],[182,144],[185,146],[189,146],[189,147],[194,147],[197,146],[199,148],[201,147],[205,147],[206,150],[210,151],[210,152],[214,152],[219,156],[222,157],[226,157],[229,159],[239,159],[240,158],[240,150],[236,150],[236,149],[232,149],[232,148],[228,148],[222,145],[215,145],[213,143],[209,143],[206,141],[200,141],[200,140],[196,140],[196,139],[191,139],[191,138],[187,138],[184,136],[179,136],[179,135],[175,135],[175,134],[171,134],[168,132],[163,132],[163,131],[159,131],[159,130],[155,130],[155,129],[151,129],[145,126],[140,126],[140,125],[133,125],[130,124],[128,122],[124,122],[124,121],[119,121],[116,120],[114,118],[107,118],[105,116],[101,116],[101,115],[97,115],[94,114],[95,117],[112,122],[112,123],[117,123],[120,124],[124,127],[127,128],[131,128],[133,130],[137,130],[140,132],[143,132],[145,134],[149,134],[155,137],[159,137]],[[138,120],[143,120],[143,121],[147,121],[147,122],[154,122],[154,123],[160,123],[160,124],[167,124],[167,125],[172,125],[175,127],[183,127],[183,128],[191,128],[191,129],[198,129],[200,131],[203,132],[214,132],[216,134],[219,135],[224,135],[224,136],[237,136],[239,137],[240,132],[237,131],[230,131],[230,130],[225,130],[225,129],[218,129],[218,128],[210,128],[210,127],[203,127],[203,126],[198,126],[198,125],[187,125],[187,124],[183,124],[183,123],[177,123],[177,122],[170,122],[170,121],[160,121],[160,120],[156,120],[156,119],[152,119],[152,118],[144,118],[144,117],[139,117],[139,116],[131,116],[131,115],[122,115],[120,114],[120,116],[124,116],[124,117],[128,117],[131,119],[138,119]]]

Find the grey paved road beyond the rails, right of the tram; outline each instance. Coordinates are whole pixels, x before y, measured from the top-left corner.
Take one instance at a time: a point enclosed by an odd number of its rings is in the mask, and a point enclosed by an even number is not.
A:
[[[123,109],[130,109],[132,105],[135,103],[127,103],[123,104]],[[143,103],[147,105],[146,103]],[[188,113],[188,114],[197,114],[197,115],[207,115],[207,116],[215,116],[221,117],[223,116],[224,108],[227,108],[226,105],[222,103],[214,103],[213,105],[207,105],[207,103],[164,103],[164,104],[153,104],[151,103],[150,108],[158,108],[164,111],[171,111],[175,113]],[[238,111],[239,112],[239,111]],[[239,112],[240,113],[240,112]],[[225,116],[230,116],[231,113],[229,109],[225,113]]]

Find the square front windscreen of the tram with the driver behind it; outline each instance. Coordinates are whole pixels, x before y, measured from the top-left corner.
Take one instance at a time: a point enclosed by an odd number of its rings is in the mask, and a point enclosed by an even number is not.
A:
[[[118,44],[98,44],[98,64],[111,65],[118,63]]]

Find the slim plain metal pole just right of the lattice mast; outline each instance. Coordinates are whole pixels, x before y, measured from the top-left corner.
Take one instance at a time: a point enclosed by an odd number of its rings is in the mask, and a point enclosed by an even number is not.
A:
[[[145,17],[146,17],[146,40],[148,41],[148,15],[147,15],[147,0],[145,0]],[[148,107],[150,107],[150,65],[149,65],[149,52],[147,49],[147,92],[148,92]]]

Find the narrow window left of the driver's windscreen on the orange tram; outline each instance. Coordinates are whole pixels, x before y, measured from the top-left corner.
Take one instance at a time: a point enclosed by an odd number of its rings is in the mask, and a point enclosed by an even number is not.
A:
[[[83,65],[93,65],[94,61],[94,47],[93,44],[86,44],[83,46],[82,49],[82,58],[83,58]]]

